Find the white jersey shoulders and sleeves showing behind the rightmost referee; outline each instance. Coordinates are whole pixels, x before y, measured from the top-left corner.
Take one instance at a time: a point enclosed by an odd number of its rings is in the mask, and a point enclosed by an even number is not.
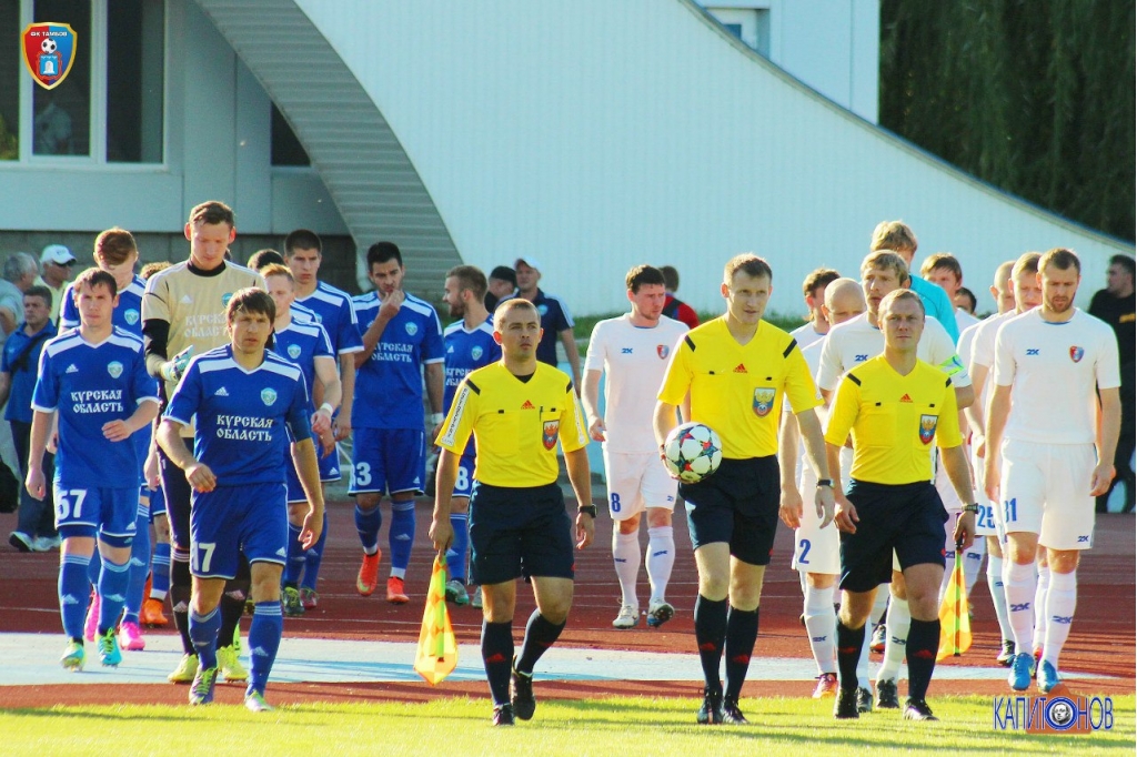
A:
[[[824,347],[821,349],[818,386],[825,391],[836,391],[847,371],[883,351],[885,334],[869,323],[868,313],[833,326],[829,330]],[[943,324],[931,316],[924,321],[916,357],[940,368],[952,377],[952,383],[956,388],[971,385],[971,377],[960,356],[955,353],[955,342]]]

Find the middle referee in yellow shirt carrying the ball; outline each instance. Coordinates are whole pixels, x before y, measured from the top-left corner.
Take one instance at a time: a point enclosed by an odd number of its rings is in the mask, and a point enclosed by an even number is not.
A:
[[[813,410],[821,400],[810,368],[794,338],[762,321],[772,278],[769,264],[756,255],[727,263],[722,284],[727,313],[679,343],[655,408],[661,449],[677,425],[677,409],[688,398],[689,419],[719,432],[723,447],[722,465],[714,475],[679,485],[699,572],[695,640],[706,688],[696,722],[702,724],[747,722],[738,697],[758,635],[762,580],[778,529],[781,490],[775,456],[783,398],[789,398],[818,473],[815,500],[822,526],[833,511],[821,423]],[[792,466],[796,460],[783,464]],[[725,691],[719,679],[724,652]]]

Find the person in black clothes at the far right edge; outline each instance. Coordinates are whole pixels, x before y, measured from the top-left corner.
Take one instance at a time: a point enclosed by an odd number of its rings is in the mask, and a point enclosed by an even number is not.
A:
[[[1110,484],[1110,491],[1097,498],[1096,510],[1106,511],[1110,492],[1119,481],[1126,484],[1124,511],[1134,511],[1134,469],[1130,459],[1134,455],[1134,342],[1137,331],[1137,298],[1134,296],[1134,259],[1128,255],[1114,255],[1110,258],[1106,271],[1105,289],[1094,293],[1089,301],[1089,314],[1110,324],[1118,338],[1118,353],[1121,367],[1121,436],[1118,440],[1117,454],[1113,456],[1113,467],[1118,476]]]

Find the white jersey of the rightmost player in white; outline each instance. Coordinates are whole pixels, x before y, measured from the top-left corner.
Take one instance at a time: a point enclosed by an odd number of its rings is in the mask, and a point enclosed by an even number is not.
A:
[[[1096,390],[1121,385],[1117,338],[1105,322],[1080,309],[1070,321],[1048,323],[1035,308],[999,326],[995,384],[1011,386],[1004,439],[1092,444]]]

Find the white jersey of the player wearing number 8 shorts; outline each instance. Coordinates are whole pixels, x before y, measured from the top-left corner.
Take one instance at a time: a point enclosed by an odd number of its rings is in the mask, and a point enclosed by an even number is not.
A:
[[[667,365],[687,324],[666,316],[652,328],[633,326],[631,314],[596,324],[584,358],[584,372],[603,371],[606,449],[653,452],[652,416]]]

